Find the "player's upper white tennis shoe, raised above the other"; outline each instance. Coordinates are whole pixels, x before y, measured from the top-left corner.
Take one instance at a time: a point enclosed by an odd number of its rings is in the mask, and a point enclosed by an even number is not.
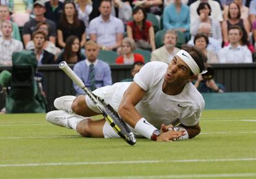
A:
[[[72,103],[76,97],[75,96],[61,96],[54,100],[54,107],[59,110],[65,110],[69,114],[74,113],[71,109]]]

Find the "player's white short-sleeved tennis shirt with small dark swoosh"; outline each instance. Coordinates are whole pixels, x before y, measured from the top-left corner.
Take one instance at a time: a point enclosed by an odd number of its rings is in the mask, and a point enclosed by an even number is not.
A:
[[[162,123],[196,125],[205,106],[202,95],[192,83],[187,83],[184,90],[175,96],[163,93],[167,68],[163,62],[149,62],[135,75],[135,83],[147,91],[136,109],[156,128],[160,128]]]

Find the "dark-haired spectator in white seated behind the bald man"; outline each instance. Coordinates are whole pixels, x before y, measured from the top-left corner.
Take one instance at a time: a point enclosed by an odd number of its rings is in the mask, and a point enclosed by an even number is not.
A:
[[[195,36],[198,33],[198,28],[200,23],[206,22],[211,26],[210,29],[210,37],[215,38],[216,40],[222,43],[222,34],[221,34],[221,26],[220,22],[216,19],[212,19],[211,15],[211,7],[208,2],[201,2],[197,8],[198,18],[194,20],[190,25],[190,33],[192,36]]]

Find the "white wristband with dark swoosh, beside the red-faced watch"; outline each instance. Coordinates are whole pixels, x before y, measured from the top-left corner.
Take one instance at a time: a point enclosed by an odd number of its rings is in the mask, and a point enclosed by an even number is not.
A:
[[[155,128],[151,123],[149,123],[145,118],[142,117],[140,119],[135,127],[134,130],[137,131],[140,135],[145,136],[148,139],[151,139],[151,135],[157,128]]]

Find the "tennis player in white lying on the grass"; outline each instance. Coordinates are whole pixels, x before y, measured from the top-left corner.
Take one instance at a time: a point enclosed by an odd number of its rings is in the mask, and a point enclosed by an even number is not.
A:
[[[135,136],[155,141],[194,138],[200,133],[205,103],[191,81],[205,70],[206,60],[196,48],[182,46],[169,65],[149,62],[133,82],[115,83],[93,93],[118,111]],[[55,125],[72,128],[82,136],[119,138],[105,120],[88,119],[100,114],[88,96],[62,96],[54,106],[59,110],[48,112],[46,119]]]

